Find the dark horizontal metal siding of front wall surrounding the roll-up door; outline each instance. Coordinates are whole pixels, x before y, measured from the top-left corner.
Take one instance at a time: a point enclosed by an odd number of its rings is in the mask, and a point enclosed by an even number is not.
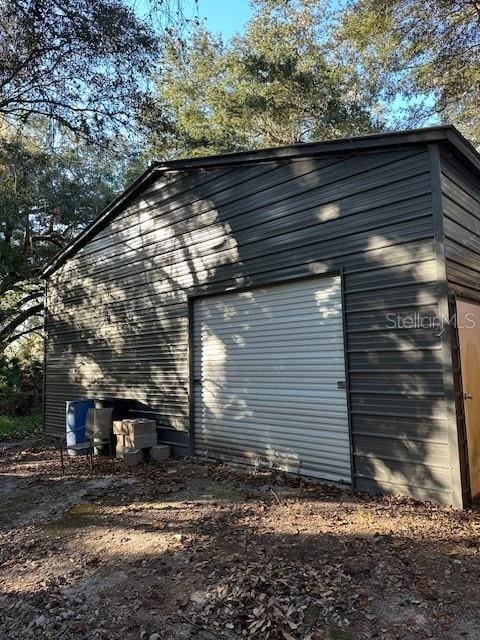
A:
[[[426,147],[164,177],[49,281],[46,424],[134,397],[188,446],[188,296],[343,269],[358,488],[451,501]],[[186,450],[186,449],[185,449]]]

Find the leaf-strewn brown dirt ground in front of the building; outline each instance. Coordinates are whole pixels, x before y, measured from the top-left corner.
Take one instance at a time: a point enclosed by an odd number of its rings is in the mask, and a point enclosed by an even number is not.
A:
[[[480,515],[0,443],[0,638],[479,638]]]

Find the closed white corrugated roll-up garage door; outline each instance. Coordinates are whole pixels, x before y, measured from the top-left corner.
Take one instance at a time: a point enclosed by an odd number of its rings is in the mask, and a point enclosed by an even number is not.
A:
[[[340,278],[198,298],[193,318],[196,453],[350,482]]]

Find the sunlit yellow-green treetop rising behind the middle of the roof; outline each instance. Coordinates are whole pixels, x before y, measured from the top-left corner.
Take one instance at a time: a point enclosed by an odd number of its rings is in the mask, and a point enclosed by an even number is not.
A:
[[[166,45],[156,102],[143,111],[160,157],[206,155],[371,131],[351,69],[328,60],[317,2],[258,2],[246,33],[199,28]]]

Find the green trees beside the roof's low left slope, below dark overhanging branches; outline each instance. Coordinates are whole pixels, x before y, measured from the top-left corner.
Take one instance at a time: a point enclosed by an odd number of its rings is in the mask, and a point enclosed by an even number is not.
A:
[[[123,186],[125,161],[64,135],[48,144],[44,121],[0,142],[0,345],[41,325],[45,263]]]

